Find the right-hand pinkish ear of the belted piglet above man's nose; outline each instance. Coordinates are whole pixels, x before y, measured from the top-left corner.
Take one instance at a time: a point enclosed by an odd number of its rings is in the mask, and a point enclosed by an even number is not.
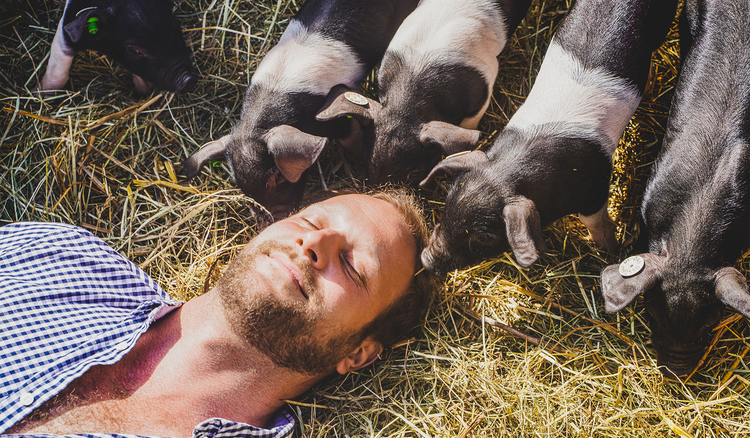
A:
[[[276,167],[284,178],[293,183],[299,181],[326,145],[325,137],[307,134],[289,125],[271,128],[265,140]]]

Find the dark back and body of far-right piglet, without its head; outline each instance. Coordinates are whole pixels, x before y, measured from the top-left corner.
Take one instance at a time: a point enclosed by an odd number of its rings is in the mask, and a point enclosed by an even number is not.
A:
[[[644,220],[652,249],[666,240],[670,252],[732,264],[750,245],[750,4],[688,2],[685,11],[691,46]]]

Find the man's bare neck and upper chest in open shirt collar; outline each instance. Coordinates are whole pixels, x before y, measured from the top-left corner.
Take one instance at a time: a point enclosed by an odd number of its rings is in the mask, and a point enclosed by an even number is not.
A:
[[[236,336],[215,293],[155,322],[120,362],[95,366],[10,429],[190,436],[220,417],[266,426],[316,383],[275,366]]]

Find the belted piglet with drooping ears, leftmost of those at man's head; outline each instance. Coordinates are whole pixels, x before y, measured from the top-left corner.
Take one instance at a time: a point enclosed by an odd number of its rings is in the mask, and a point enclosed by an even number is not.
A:
[[[183,164],[195,176],[210,159],[225,159],[242,191],[283,217],[302,198],[304,171],[326,137],[351,132],[350,122],[315,114],[332,88],[355,88],[380,61],[417,0],[309,0],[252,77],[240,123]]]

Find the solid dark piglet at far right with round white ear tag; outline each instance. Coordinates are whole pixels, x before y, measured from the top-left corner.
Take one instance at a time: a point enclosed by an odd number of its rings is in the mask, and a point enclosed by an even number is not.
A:
[[[602,272],[608,312],[643,294],[657,362],[678,376],[699,365],[725,304],[750,317],[732,267],[750,246],[750,2],[689,0],[684,13],[692,47],[643,198],[649,252]]]

